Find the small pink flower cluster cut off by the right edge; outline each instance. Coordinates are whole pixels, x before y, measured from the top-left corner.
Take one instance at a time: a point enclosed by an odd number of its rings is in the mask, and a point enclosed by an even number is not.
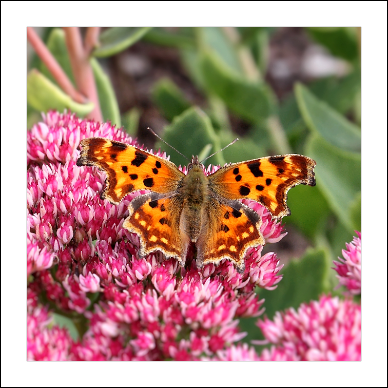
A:
[[[337,278],[340,285],[345,286],[353,295],[361,294],[361,233],[356,230],[357,236],[351,243],[346,243],[342,249],[342,258],[334,262]]]

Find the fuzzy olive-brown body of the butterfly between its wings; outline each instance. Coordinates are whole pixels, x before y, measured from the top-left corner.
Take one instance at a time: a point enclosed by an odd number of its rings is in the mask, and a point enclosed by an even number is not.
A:
[[[198,163],[188,166],[189,171],[183,179],[179,189],[183,201],[180,219],[181,233],[196,242],[204,220],[206,220],[207,206],[210,191],[209,180],[203,172],[203,167]]]

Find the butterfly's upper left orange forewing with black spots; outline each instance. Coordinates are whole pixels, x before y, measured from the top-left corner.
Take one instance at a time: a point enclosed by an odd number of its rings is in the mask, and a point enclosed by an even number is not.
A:
[[[84,139],[80,144],[77,166],[96,166],[106,172],[102,198],[112,203],[137,190],[172,192],[185,176],[172,162],[129,144],[104,138]]]

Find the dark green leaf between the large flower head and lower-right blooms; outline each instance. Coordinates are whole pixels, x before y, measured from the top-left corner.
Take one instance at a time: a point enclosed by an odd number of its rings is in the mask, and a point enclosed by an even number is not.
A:
[[[330,265],[326,256],[322,248],[308,249],[301,260],[292,260],[283,268],[283,279],[278,288],[259,291],[260,299],[265,298],[268,318],[285,308],[298,308],[303,302],[318,300],[319,295],[327,291],[326,276]]]

